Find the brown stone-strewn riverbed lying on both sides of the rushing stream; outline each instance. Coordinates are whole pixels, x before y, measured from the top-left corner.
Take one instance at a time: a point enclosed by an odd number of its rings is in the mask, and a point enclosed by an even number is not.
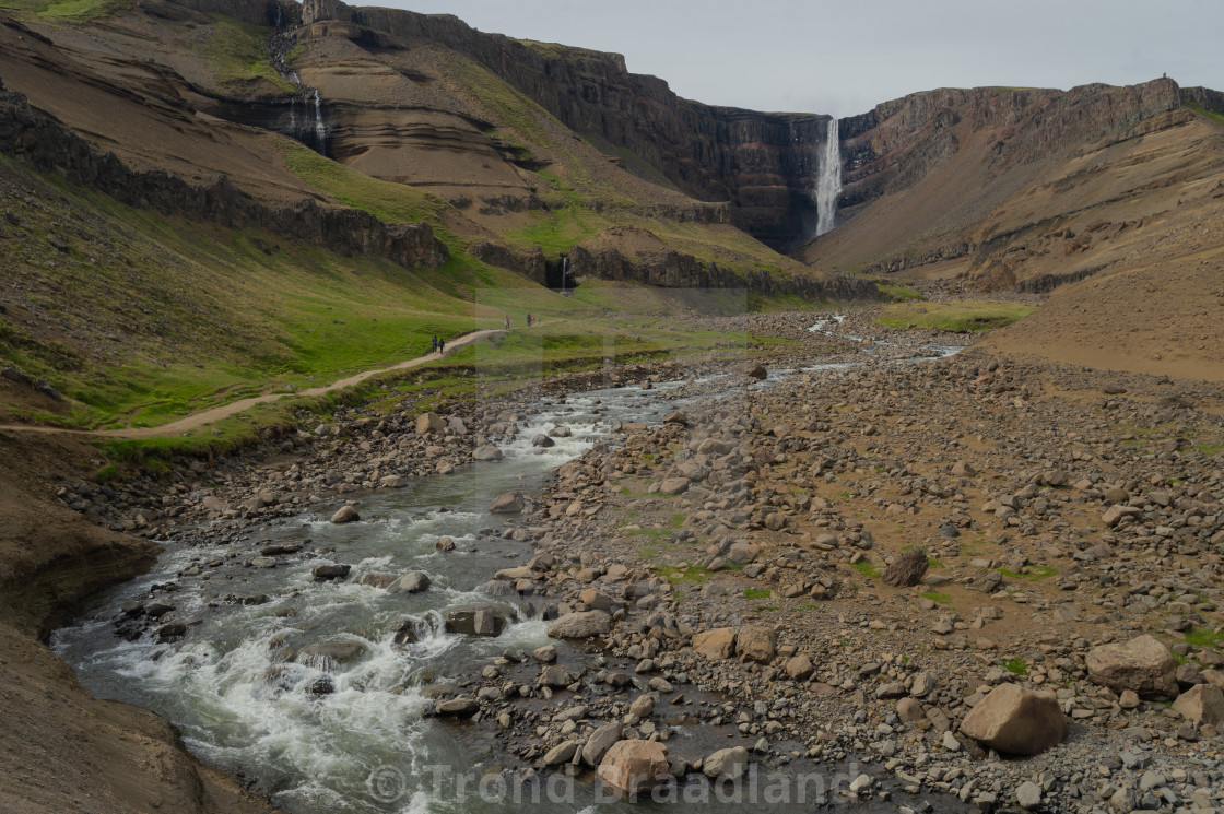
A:
[[[424,714],[465,720],[499,766],[599,767],[624,791],[854,761],[838,799],[902,809],[929,807],[925,796],[944,808],[1224,807],[1219,388],[972,353],[898,362],[938,338],[891,337],[897,350],[878,353],[812,334],[810,318],[750,319],[750,333],[794,339],[770,368],[818,361],[818,344],[821,362],[863,364],[767,387],[750,386],[767,372],[755,365],[618,371],[643,388],[688,377],[654,394],[683,409],[617,422],[539,499],[507,498],[504,525],[477,537],[531,546],[483,594],[548,621],[564,646],[508,646],[432,676]],[[854,319],[838,330],[874,333]],[[547,399],[606,377],[558,379]],[[353,409],[269,438],[261,460],[113,495],[65,485],[61,497],[108,524],[224,543],[182,572],[226,579],[328,553],[244,546],[252,530],[304,512],[360,517],[371,490],[496,459],[540,395],[430,415]],[[340,570],[316,578],[377,577]],[[173,594],[155,585],[110,608],[111,623],[190,637]],[[496,634],[506,616],[454,624]],[[1006,741],[966,723],[1016,689],[1045,699],[1033,701],[1054,716],[1042,720],[1066,737]],[[1000,709],[1006,736],[1009,716],[1027,714]]]

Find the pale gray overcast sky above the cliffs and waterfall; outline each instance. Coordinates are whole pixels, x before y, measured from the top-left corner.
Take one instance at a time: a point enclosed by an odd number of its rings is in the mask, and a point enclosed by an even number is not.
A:
[[[485,32],[624,54],[682,97],[863,113],[938,87],[1224,89],[1222,0],[348,0],[453,13]]]

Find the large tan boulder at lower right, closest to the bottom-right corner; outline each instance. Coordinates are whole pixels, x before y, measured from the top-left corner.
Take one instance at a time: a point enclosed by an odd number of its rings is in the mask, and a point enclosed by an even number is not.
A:
[[[1054,693],[1000,684],[965,716],[961,732],[996,752],[1036,755],[1062,742],[1067,720]]]

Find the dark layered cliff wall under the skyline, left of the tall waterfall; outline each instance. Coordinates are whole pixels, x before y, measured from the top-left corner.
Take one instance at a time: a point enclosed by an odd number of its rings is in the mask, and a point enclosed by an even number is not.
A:
[[[662,80],[629,73],[618,54],[532,47],[481,33],[449,15],[306,0],[302,23],[327,21],[360,26],[364,43],[382,33],[454,49],[568,127],[634,153],[684,193],[732,203],[737,225],[771,246],[796,245],[813,230],[812,190],[829,116],[764,114],[689,102]]]

